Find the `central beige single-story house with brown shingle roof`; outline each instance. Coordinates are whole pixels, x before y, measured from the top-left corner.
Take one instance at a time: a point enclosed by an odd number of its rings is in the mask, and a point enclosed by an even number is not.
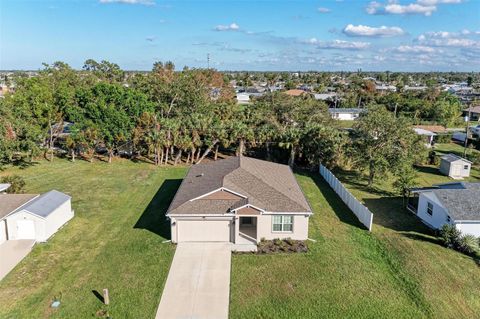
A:
[[[166,216],[180,242],[306,240],[312,210],[289,166],[249,157],[193,165]]]

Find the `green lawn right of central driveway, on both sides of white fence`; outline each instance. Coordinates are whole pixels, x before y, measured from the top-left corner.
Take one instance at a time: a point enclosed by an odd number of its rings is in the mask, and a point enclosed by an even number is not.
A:
[[[366,191],[362,176],[337,174],[374,213],[373,232],[358,225],[318,175],[300,173],[315,213],[310,237],[317,242],[305,255],[234,256],[231,317],[478,318],[475,261],[442,247],[402,208],[391,180]],[[417,181],[451,180],[425,167]]]

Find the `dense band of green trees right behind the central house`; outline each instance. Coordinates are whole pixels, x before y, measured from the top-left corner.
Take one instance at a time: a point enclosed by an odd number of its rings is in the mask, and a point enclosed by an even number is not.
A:
[[[228,77],[212,69],[157,62],[151,72],[125,73],[108,61],[87,60],[82,70],[55,62],[15,83],[15,93],[0,100],[2,164],[53,160],[58,150],[72,161],[123,154],[154,165],[248,152],[291,166],[348,162],[368,171],[369,184],[393,173],[404,185],[421,153],[411,121],[388,105],[372,101],[348,133],[308,96],[272,92],[239,105]]]

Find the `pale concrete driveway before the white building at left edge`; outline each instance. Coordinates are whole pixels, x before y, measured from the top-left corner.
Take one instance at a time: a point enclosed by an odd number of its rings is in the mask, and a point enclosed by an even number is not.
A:
[[[7,240],[0,245],[0,280],[32,250],[35,240]]]

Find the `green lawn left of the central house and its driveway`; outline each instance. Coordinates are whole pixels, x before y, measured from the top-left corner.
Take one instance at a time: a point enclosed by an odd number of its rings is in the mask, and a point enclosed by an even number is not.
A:
[[[12,172],[29,192],[71,194],[75,218],[0,282],[0,318],[92,318],[103,288],[113,318],[152,318],[174,253],[161,216],[186,169],[56,159]]]

